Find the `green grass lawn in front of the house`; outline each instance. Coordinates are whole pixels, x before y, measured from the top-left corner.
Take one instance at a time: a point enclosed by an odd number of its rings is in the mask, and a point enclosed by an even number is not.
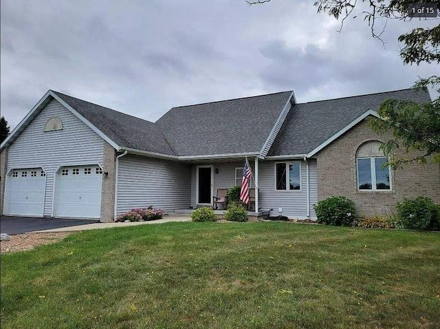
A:
[[[439,295],[439,233],[170,223],[1,255],[1,328],[439,328]]]

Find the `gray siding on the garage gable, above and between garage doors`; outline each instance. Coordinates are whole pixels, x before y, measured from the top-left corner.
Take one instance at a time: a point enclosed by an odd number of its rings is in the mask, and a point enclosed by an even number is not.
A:
[[[63,130],[44,132],[53,116]],[[52,215],[55,171],[61,165],[102,164],[104,140],[57,100],[52,100],[14,140],[8,151],[8,171],[43,167],[46,171],[44,215]]]

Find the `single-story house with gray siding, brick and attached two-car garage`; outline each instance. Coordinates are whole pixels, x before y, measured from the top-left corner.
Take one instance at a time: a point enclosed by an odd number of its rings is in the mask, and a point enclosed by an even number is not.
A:
[[[109,222],[136,207],[211,206],[241,183],[245,157],[257,215],[314,219],[331,195],[364,215],[440,202],[438,164],[382,169],[388,136],[366,119],[388,98],[431,101],[404,89],[297,103],[288,91],[173,107],[152,123],[49,90],[1,144],[1,213]]]

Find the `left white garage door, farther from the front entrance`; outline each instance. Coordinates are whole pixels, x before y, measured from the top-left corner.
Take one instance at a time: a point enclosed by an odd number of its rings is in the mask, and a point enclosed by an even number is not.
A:
[[[8,215],[43,217],[46,174],[41,168],[14,169],[8,176]]]

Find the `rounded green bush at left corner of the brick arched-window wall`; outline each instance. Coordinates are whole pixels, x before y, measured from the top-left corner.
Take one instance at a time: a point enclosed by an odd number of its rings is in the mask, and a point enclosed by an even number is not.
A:
[[[314,209],[320,224],[351,226],[356,217],[355,203],[344,196],[321,200]]]

